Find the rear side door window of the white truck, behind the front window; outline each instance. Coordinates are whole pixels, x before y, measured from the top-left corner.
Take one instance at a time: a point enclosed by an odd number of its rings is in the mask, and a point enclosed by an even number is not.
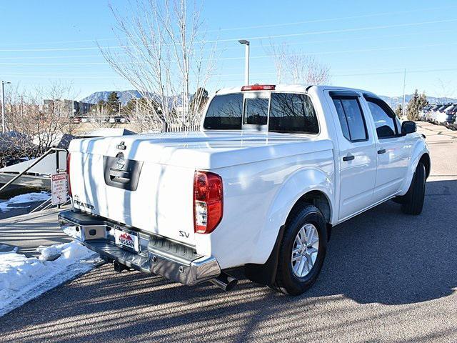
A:
[[[368,139],[366,122],[358,102],[358,96],[332,96],[343,136],[349,141]]]

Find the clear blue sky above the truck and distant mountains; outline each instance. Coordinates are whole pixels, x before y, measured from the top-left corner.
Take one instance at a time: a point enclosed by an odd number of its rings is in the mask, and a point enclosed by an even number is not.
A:
[[[196,0],[199,1],[199,0]],[[116,46],[112,4],[126,1],[1,1],[0,79],[21,91],[51,81],[73,84],[76,98],[133,87],[106,63],[99,47]],[[206,39],[218,40],[211,92],[244,79],[251,41],[250,83],[276,82],[270,42],[287,44],[330,67],[331,84],[406,94],[457,97],[457,1],[210,1],[202,5]]]

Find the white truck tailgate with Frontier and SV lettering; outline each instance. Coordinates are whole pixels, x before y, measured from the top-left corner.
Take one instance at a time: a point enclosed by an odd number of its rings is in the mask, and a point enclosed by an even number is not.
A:
[[[70,163],[75,208],[195,244],[194,169],[78,151]]]

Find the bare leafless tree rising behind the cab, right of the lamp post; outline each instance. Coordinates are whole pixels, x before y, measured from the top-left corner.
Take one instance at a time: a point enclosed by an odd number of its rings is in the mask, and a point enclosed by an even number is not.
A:
[[[277,46],[270,42],[267,49],[275,67],[278,82],[294,84],[328,84],[331,81],[330,67],[321,64],[314,56],[293,51],[286,43]]]

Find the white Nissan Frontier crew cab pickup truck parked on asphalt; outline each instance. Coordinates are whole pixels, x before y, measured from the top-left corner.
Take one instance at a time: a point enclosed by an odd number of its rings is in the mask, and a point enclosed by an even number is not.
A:
[[[375,94],[334,86],[217,91],[201,130],[76,139],[64,231],[114,268],[286,294],[316,281],[331,228],[388,199],[420,214],[428,147]]]

